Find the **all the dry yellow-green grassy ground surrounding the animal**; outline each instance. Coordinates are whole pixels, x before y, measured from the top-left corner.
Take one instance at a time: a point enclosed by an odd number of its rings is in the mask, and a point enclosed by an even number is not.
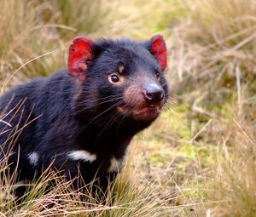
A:
[[[112,206],[84,206],[51,173],[18,205],[1,177],[2,216],[255,216],[255,1],[9,0],[0,14],[2,93],[66,66],[81,34],[163,34],[171,87],[161,117],[132,141]],[[61,185],[43,195],[51,179]]]

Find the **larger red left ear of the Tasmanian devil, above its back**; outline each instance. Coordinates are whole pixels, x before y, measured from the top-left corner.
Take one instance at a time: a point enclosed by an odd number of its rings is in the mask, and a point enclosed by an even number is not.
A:
[[[69,46],[68,73],[80,81],[84,81],[85,71],[93,58],[92,46],[92,40],[83,36],[75,37]]]

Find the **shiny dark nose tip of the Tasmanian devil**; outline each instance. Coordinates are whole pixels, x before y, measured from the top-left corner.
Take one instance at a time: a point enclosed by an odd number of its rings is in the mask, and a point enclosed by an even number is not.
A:
[[[155,83],[145,85],[143,94],[150,105],[158,104],[164,98],[164,90]]]

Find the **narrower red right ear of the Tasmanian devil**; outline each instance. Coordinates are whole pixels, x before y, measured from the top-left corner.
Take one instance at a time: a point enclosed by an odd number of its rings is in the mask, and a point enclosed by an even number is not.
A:
[[[164,38],[161,35],[155,35],[150,39],[151,47],[149,49],[150,53],[154,55],[154,58],[157,60],[158,64],[161,67],[161,70],[166,69],[166,43]]]

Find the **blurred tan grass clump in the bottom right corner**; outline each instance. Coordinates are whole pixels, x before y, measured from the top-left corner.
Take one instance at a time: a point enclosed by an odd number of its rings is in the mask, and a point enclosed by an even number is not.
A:
[[[219,144],[214,179],[207,182],[212,189],[207,192],[208,200],[218,203],[207,212],[209,216],[254,216],[255,134],[245,121],[231,118],[230,126]]]

